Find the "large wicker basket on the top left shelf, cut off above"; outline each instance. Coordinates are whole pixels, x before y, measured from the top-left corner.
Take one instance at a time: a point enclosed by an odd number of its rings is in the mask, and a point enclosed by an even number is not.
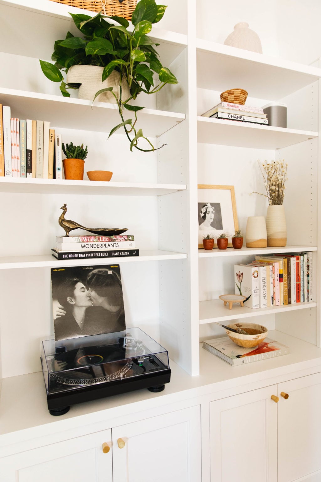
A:
[[[137,0],[51,0],[70,7],[83,8],[90,12],[102,12],[109,17],[125,17],[131,19]]]

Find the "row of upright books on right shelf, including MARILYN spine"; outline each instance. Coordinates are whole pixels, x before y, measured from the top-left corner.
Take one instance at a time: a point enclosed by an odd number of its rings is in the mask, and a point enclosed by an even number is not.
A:
[[[249,308],[313,301],[313,252],[257,255],[234,265],[235,294]]]

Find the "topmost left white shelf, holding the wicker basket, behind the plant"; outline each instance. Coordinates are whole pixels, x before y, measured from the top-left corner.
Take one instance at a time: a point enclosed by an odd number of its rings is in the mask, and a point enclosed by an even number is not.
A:
[[[32,5],[31,5],[32,4]],[[81,13],[89,16],[96,12],[78,9],[50,0],[0,0],[0,17],[6,21],[1,25],[0,39],[10,37],[10,42],[1,42],[4,52],[21,55],[21,42],[29,57],[50,60],[54,42],[64,39],[71,31],[79,35],[70,13]],[[15,34],[12,34],[14,25]],[[132,27],[134,28],[134,27]],[[131,30],[131,26],[129,28]],[[39,36],[41,42],[39,42]],[[187,45],[187,35],[171,32],[154,27],[149,35],[160,45],[157,51],[164,66],[171,62],[184,50]]]

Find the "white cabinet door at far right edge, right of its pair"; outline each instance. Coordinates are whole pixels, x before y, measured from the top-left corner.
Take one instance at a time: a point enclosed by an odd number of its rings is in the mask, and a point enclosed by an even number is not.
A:
[[[279,482],[321,480],[321,373],[280,383],[278,396]]]

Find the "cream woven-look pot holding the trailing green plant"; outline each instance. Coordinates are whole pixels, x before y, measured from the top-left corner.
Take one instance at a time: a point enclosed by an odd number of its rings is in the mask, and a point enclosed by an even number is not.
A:
[[[113,87],[113,92],[119,95],[119,72],[114,70],[110,76],[102,82],[103,67],[94,65],[74,65],[67,73],[67,83],[80,83],[78,99],[93,100],[96,92],[107,87]],[[129,87],[126,80],[122,80],[122,99],[130,97]],[[96,100],[116,104],[116,99],[111,92],[103,92]]]

